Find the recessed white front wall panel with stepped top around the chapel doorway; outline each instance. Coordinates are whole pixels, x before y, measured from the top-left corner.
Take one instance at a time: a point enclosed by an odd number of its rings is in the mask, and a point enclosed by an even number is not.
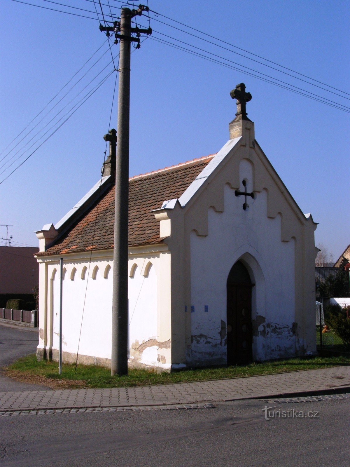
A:
[[[280,241],[281,218],[266,216],[265,190],[246,211],[242,204],[242,198],[226,184],[224,211],[208,212],[208,235],[197,236],[194,231],[190,235],[194,364],[226,362],[226,281],[238,260],[244,262],[255,284],[253,359],[295,354],[294,240]]]

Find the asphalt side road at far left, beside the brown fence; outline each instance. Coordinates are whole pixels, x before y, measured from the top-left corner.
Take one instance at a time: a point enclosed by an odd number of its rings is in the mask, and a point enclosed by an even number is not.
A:
[[[22,328],[0,323],[0,368],[20,357],[35,354],[38,345],[38,329]],[[4,391],[35,391],[48,389],[37,384],[14,381],[1,374],[0,392]]]

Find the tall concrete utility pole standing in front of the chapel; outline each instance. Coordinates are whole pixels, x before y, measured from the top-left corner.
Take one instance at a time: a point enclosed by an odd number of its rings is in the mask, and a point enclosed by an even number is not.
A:
[[[117,161],[115,170],[112,358],[111,375],[127,374],[128,341],[128,214],[129,214],[129,115],[131,10],[122,8],[120,15],[119,88]]]

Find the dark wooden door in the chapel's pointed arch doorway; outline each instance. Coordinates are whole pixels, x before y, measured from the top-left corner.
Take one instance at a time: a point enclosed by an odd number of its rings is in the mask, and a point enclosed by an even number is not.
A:
[[[252,280],[245,265],[236,262],[228,275],[227,365],[252,361]]]

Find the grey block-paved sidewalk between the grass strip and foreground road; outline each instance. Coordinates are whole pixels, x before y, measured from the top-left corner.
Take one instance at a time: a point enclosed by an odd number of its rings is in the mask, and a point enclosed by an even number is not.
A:
[[[350,366],[140,388],[0,392],[0,411],[137,407],[331,393],[350,389]]]

